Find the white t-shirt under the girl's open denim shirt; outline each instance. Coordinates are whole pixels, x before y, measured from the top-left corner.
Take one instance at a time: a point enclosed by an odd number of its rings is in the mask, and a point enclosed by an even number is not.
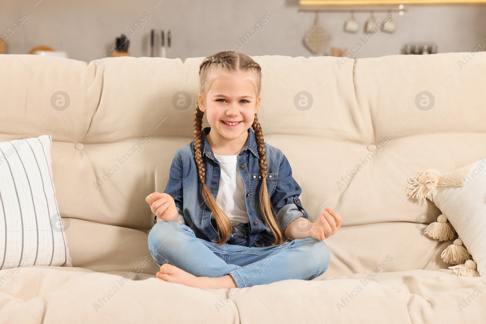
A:
[[[245,188],[243,178],[238,171],[238,154],[217,155],[221,165],[221,177],[219,182],[216,202],[228,215],[233,225],[241,225],[250,222],[248,211],[246,210]],[[211,218],[214,215],[211,214]]]

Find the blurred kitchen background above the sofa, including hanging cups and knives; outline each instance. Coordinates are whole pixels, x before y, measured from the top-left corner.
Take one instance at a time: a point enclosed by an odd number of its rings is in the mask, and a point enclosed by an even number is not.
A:
[[[373,4],[339,6],[335,0],[0,0],[0,52],[54,50],[89,62],[120,55],[184,60],[223,50],[293,57],[352,51],[360,58],[404,54],[407,45],[417,54],[486,47],[486,3],[480,3],[486,1],[412,2],[376,11]],[[365,33],[366,23],[378,24],[376,33]]]

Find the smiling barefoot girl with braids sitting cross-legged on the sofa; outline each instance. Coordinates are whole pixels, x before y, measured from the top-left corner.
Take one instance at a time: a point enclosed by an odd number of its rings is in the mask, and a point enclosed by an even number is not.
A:
[[[145,199],[157,279],[230,289],[321,275],[342,219],[326,207],[309,222],[287,158],[263,141],[260,65],[222,51],[203,60],[199,82],[194,140],[175,152],[164,193]]]

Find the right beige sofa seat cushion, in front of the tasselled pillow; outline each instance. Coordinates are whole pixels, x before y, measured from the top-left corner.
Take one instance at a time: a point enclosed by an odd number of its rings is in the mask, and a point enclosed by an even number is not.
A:
[[[284,280],[243,288],[232,301],[241,323],[486,323],[485,288],[485,277],[407,270]]]

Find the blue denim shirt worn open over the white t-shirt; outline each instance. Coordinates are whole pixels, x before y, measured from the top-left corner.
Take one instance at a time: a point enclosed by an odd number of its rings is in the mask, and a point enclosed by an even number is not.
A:
[[[220,185],[221,167],[214,157],[206,135],[211,127],[204,128],[201,134],[201,153],[206,167],[205,180],[213,197],[216,198]],[[245,201],[250,222],[235,225],[226,243],[260,247],[262,242],[270,246],[275,237],[262,221],[259,205],[259,191],[262,182],[260,173],[260,155],[253,129],[248,128],[248,139],[238,153],[237,170],[243,178]],[[299,196],[302,189],[292,177],[289,161],[281,150],[265,143],[267,160],[267,189],[270,201],[275,208],[276,217],[280,220],[280,231],[283,232],[290,222],[300,217],[309,218],[302,207]],[[201,181],[197,175],[194,158],[194,141],[181,147],[174,154],[169,181],[164,193],[174,198],[175,207],[181,221],[191,227],[197,238],[217,242],[216,221],[211,219],[212,212],[203,204]],[[239,175],[237,175],[239,176]],[[154,217],[154,224],[156,223]],[[284,242],[289,239],[283,237]]]

